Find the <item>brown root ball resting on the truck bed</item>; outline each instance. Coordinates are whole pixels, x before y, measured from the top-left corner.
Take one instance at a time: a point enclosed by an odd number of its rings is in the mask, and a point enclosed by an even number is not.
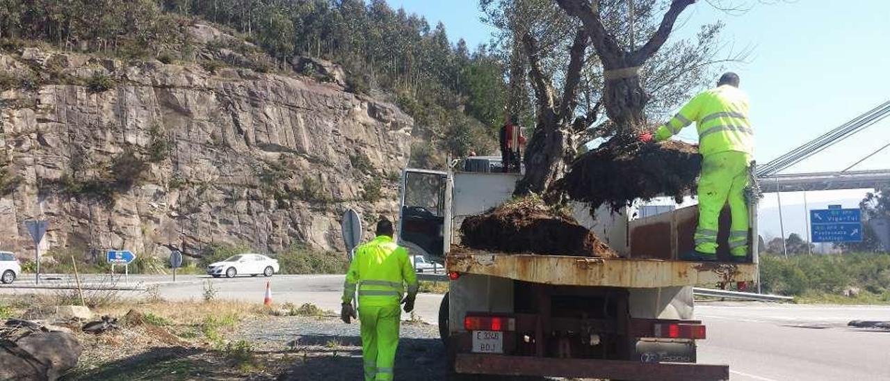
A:
[[[480,250],[542,255],[615,257],[614,251],[569,215],[537,197],[509,201],[460,225],[462,245]]]

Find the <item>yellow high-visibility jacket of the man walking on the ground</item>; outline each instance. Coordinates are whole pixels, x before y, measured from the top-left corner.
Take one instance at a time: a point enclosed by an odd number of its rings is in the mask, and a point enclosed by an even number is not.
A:
[[[352,303],[358,288],[360,305],[399,305],[405,284],[409,295],[417,295],[417,274],[408,250],[396,245],[391,237],[378,236],[355,250],[346,272],[343,303]]]

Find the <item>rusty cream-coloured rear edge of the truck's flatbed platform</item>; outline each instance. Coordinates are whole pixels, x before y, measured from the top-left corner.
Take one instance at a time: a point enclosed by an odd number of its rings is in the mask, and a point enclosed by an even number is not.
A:
[[[754,263],[505,254],[467,249],[447,255],[449,272],[561,286],[665,288],[753,281]]]

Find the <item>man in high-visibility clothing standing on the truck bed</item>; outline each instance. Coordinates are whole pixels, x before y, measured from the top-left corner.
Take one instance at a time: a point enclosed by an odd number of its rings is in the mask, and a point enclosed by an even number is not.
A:
[[[739,76],[725,73],[716,88],[699,93],[655,135],[640,140],[661,142],[695,122],[702,156],[699,179],[699,226],[695,250],[682,259],[716,261],[720,211],[728,202],[732,212],[729,248],[732,262],[748,255],[748,166],[754,154],[754,129],[748,121],[748,96],[739,90]]]

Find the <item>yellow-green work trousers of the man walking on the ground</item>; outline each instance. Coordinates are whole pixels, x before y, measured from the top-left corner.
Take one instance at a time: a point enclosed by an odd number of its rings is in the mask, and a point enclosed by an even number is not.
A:
[[[392,380],[395,351],[399,346],[400,318],[399,304],[385,306],[359,304],[365,381]]]

